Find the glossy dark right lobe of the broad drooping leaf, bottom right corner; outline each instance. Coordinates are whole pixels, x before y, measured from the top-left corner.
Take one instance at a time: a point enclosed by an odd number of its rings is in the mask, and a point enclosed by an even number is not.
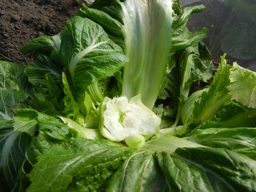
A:
[[[172,154],[160,152],[157,157],[172,191],[256,189],[256,161],[224,148],[177,148]]]

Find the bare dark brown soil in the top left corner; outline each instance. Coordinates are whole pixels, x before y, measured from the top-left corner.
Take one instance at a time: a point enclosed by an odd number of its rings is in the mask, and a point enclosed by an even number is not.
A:
[[[27,65],[32,54],[19,49],[41,35],[56,35],[81,7],[83,0],[1,0],[0,60]]]

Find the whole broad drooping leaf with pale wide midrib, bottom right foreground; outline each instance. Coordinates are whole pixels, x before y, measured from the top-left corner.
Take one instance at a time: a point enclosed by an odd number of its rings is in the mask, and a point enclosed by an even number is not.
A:
[[[251,157],[253,152],[250,151]],[[204,147],[177,137],[159,137],[128,157],[111,177],[105,191],[143,191],[148,186],[151,187],[148,191],[254,191],[255,169],[256,161],[243,154]],[[144,183],[148,184],[144,187]]]

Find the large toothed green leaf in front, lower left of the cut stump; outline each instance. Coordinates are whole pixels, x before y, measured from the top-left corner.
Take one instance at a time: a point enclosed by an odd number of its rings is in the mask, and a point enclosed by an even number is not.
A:
[[[38,156],[28,192],[94,191],[111,177],[131,149],[107,140],[74,139]]]

